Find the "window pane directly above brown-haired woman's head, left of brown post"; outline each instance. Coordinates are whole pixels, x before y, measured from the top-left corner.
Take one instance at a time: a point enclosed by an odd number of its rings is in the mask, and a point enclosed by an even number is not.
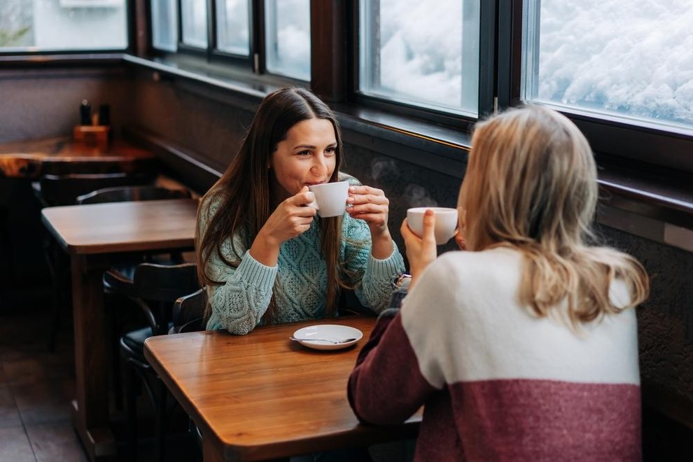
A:
[[[310,0],[266,0],[267,71],[310,80]]]

